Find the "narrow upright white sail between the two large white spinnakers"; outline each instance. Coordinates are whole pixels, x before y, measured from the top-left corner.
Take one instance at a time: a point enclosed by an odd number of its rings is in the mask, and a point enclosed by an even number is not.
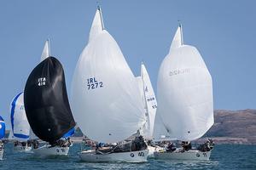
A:
[[[157,108],[157,102],[154,95],[154,89],[148,76],[148,71],[146,70],[146,67],[143,64],[141,66],[141,77],[143,81],[143,98],[145,103],[145,109],[147,111],[146,117],[148,117],[148,129],[146,132],[146,136],[148,138],[152,138],[154,130],[154,116]]]

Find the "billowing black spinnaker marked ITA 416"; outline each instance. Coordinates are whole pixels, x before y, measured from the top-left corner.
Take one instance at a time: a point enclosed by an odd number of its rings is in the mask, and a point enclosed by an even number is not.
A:
[[[34,68],[26,81],[24,105],[32,131],[50,144],[75,126],[58,59],[49,57]]]

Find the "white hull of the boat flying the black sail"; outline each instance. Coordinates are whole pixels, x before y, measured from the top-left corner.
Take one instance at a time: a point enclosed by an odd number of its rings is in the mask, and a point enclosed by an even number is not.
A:
[[[38,149],[33,149],[32,151],[38,156],[67,156],[68,150],[69,147],[49,147],[49,145],[44,145]]]

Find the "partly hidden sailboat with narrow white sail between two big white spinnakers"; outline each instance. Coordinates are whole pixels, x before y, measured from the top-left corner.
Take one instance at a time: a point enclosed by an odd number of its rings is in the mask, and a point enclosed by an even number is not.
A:
[[[154,95],[154,89],[152,87],[148,71],[146,66],[142,63],[141,65],[141,76],[137,77],[137,82],[139,84],[141,98],[144,104],[144,112],[146,116],[146,123],[142,127],[141,133],[148,140],[148,143],[153,139],[153,130],[154,130],[154,117],[157,109],[157,102]],[[148,156],[153,156],[156,147],[152,144],[148,144]]]

